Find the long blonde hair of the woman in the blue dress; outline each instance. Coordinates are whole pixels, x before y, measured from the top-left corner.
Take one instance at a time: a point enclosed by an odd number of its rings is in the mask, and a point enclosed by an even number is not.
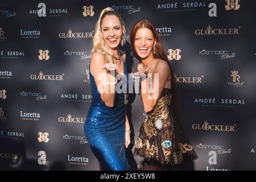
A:
[[[93,36],[93,49],[90,52],[90,54],[93,55],[94,52],[101,52],[103,55],[106,56],[107,63],[113,63],[113,53],[105,46],[105,42],[101,36],[101,23],[102,23],[102,19],[106,15],[117,16],[121,22],[121,26],[125,26],[125,23],[123,23],[122,18],[117,13],[117,11],[114,11],[111,7],[106,7],[104,10],[102,10],[100,14],[100,18],[97,20],[97,23],[95,26],[95,34]],[[122,36],[122,39],[123,38],[124,37]]]

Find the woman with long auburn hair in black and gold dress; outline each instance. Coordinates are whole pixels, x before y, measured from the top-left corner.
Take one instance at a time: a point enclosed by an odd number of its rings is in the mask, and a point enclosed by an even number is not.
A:
[[[140,82],[144,122],[135,155],[160,167],[177,167],[185,158],[196,159],[180,123],[175,75],[154,24],[147,19],[137,22],[130,40],[139,60],[138,72],[133,75],[144,78]]]

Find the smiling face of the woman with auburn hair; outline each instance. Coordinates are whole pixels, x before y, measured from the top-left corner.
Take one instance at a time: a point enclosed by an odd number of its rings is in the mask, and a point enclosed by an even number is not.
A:
[[[134,47],[141,59],[146,59],[152,55],[155,44],[152,31],[148,28],[139,28],[135,35]]]

